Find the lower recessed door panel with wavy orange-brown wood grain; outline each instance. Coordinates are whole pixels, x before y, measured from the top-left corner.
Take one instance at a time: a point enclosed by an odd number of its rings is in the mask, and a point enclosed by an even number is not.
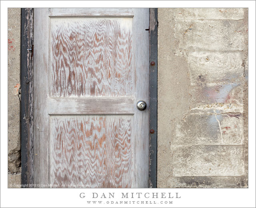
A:
[[[132,116],[51,116],[51,184],[130,188]]]

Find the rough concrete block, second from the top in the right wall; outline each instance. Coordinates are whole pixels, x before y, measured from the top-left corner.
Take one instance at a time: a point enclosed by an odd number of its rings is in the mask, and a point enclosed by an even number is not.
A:
[[[186,51],[245,50],[247,25],[243,20],[176,20],[174,36],[180,40],[177,55]]]

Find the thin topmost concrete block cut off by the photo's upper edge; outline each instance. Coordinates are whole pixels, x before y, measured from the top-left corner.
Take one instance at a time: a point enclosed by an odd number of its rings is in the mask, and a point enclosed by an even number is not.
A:
[[[241,20],[243,8],[174,8],[177,20]]]

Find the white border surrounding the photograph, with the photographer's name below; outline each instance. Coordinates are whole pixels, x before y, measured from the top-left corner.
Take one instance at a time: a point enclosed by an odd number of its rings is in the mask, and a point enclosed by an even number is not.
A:
[[[179,192],[168,207],[255,207],[255,1],[1,1],[1,207],[88,207],[92,192]],[[8,189],[7,188],[7,8],[17,7],[237,7],[249,8],[249,188],[248,189]],[[79,194],[85,192],[84,199]],[[115,198],[117,199],[117,198]],[[152,200],[152,199],[151,199]],[[99,205],[94,205],[98,207]],[[120,207],[104,204],[104,207]],[[156,207],[128,204],[126,207]],[[161,207],[160,204],[157,205]],[[167,206],[166,206],[167,207]]]

